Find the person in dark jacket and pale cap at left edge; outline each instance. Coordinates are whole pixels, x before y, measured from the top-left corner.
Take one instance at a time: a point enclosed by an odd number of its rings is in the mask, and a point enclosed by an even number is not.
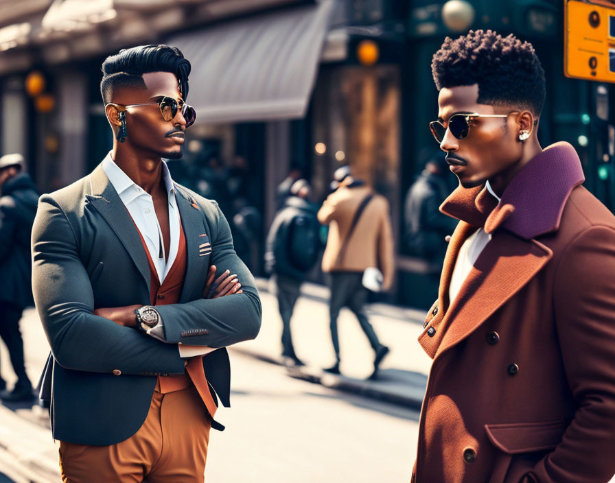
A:
[[[24,167],[21,154],[0,158],[0,337],[8,348],[17,376],[12,390],[6,390],[5,381],[0,379],[3,401],[33,398],[23,362],[19,320],[23,309],[33,303],[30,235],[38,192]]]

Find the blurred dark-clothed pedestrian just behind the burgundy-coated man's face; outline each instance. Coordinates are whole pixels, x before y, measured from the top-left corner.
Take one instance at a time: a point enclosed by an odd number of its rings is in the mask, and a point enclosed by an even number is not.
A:
[[[404,204],[406,252],[442,263],[445,237],[457,226],[456,220],[439,211],[450,193],[447,178],[452,175],[441,150],[423,148],[418,160],[425,168],[408,189]]]

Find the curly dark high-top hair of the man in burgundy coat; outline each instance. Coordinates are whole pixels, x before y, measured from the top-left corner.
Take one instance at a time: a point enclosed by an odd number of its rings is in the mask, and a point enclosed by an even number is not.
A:
[[[512,34],[470,30],[445,38],[431,62],[438,91],[478,84],[478,104],[515,106],[539,117],[544,105],[544,71],[529,42]]]

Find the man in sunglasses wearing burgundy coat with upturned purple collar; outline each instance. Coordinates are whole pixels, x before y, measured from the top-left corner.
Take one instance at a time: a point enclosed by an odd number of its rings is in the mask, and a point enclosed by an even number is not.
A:
[[[419,342],[433,359],[413,483],[615,473],[615,217],[572,145],[542,149],[529,43],[470,31],[432,61],[460,220]]]

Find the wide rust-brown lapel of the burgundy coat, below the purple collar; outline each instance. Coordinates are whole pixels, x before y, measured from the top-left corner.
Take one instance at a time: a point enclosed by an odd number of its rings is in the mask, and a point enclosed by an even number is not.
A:
[[[435,356],[478,328],[521,290],[551,257],[550,248],[534,239],[526,241],[505,230],[494,233],[443,316],[441,326],[446,329]],[[448,285],[446,288],[448,290]],[[444,297],[448,301],[448,293]],[[442,293],[440,298],[443,298]]]

